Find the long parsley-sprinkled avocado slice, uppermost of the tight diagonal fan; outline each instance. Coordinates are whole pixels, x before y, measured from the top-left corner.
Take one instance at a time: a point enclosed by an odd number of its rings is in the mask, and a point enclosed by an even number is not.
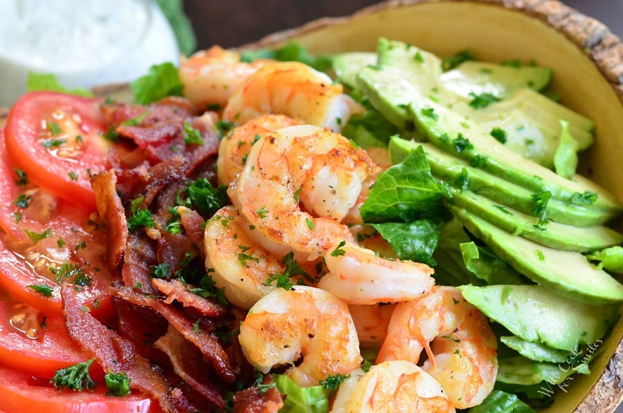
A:
[[[427,102],[421,94],[419,99],[415,98],[408,105],[408,111],[413,115],[417,128],[426,133],[433,145],[469,161],[473,166],[536,193],[550,191],[554,199],[563,202],[572,203],[583,193],[595,193],[597,200],[593,203],[594,208],[613,215],[621,210],[613,195],[595,182],[580,175],[574,175],[572,179],[556,175],[552,170],[513,152],[476,123],[464,121],[430,100]]]

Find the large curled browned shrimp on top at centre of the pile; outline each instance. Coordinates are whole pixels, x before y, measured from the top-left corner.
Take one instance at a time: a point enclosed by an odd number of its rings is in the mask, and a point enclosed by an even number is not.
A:
[[[264,248],[277,256],[294,251],[301,259],[315,259],[334,240],[352,239],[338,220],[376,170],[365,151],[340,134],[291,126],[253,145],[229,194],[254,228],[247,233]]]

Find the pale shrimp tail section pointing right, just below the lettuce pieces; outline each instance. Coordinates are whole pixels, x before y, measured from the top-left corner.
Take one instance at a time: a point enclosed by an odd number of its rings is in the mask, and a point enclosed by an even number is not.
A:
[[[323,257],[329,274],[320,279],[318,288],[348,304],[417,299],[435,284],[433,270],[426,264],[381,258],[347,241],[335,243]]]

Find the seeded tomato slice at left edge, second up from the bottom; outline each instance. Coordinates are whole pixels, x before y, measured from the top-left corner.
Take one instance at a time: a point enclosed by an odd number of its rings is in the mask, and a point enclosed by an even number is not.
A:
[[[51,378],[58,369],[89,360],[89,355],[67,335],[64,319],[8,297],[0,290],[0,363],[7,367]],[[91,376],[103,377],[91,364]]]

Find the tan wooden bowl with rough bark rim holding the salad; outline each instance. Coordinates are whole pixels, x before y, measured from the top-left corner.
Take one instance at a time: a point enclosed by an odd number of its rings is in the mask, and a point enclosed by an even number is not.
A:
[[[373,51],[379,36],[451,55],[469,48],[479,60],[535,60],[554,69],[561,102],[595,121],[595,145],[583,173],[623,202],[623,44],[603,24],[548,0],[387,1],[350,17],[312,21],[242,49],[289,40],[311,53]],[[589,376],[572,376],[548,412],[611,412],[623,396],[623,319],[599,345]]]

